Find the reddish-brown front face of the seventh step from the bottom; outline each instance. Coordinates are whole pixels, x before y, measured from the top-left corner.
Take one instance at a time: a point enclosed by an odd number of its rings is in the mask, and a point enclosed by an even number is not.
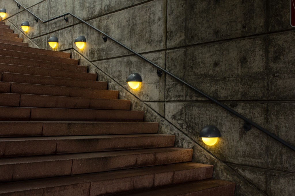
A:
[[[0,106],[130,110],[130,100],[0,93]]]

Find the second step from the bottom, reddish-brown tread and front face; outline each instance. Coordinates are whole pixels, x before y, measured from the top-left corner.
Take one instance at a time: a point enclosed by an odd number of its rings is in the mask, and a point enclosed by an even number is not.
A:
[[[0,184],[0,195],[105,195],[114,192],[178,184],[212,177],[213,166],[200,163],[175,163],[135,169],[53,177]],[[91,184],[90,184],[91,182]],[[59,188],[57,188],[59,187]],[[78,190],[87,190],[79,192]],[[89,194],[90,190],[90,194]],[[40,194],[41,193],[41,194]]]

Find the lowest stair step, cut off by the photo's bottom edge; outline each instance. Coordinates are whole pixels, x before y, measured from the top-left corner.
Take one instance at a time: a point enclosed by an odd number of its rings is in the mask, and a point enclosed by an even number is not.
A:
[[[156,187],[148,190],[125,192],[114,196],[233,196],[235,183],[223,180],[198,180],[177,185]]]

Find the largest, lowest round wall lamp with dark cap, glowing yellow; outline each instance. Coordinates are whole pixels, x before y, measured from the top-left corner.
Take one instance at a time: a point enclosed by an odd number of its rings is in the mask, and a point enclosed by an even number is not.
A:
[[[199,136],[202,138],[205,144],[212,146],[217,142],[221,135],[217,127],[213,125],[207,125],[201,130]]]

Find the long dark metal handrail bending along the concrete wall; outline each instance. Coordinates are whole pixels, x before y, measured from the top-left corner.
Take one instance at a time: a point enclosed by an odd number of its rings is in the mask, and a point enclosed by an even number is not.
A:
[[[18,8],[20,8],[20,6],[22,6],[19,2],[17,2],[16,0],[13,0],[17,3]],[[132,49],[128,48],[127,46],[125,46],[124,44],[122,44],[121,42],[115,40],[114,38],[112,38],[111,36],[107,35],[106,33],[100,31],[99,29],[95,28],[94,26],[92,26],[91,24],[87,23],[86,21],[78,18],[77,16],[75,16],[74,14],[71,13],[65,13],[62,14],[60,16],[57,16],[55,18],[49,19],[47,21],[43,21],[42,19],[40,19],[39,17],[37,17],[35,14],[33,14],[30,10],[28,10],[27,8],[25,8],[24,6],[22,6],[25,10],[27,10],[28,12],[30,12],[30,14],[32,14],[33,16],[35,16],[35,20],[36,22],[38,22],[39,20],[42,23],[47,23],[50,21],[53,21],[55,19],[59,19],[61,17],[64,17],[65,21],[68,22],[68,18],[65,18],[65,16],[67,15],[71,15],[74,18],[76,18],[77,20],[83,22],[84,24],[90,26],[91,28],[93,28],[94,30],[98,31],[99,33],[101,33],[103,36],[106,36],[107,38],[111,39],[112,41],[116,42],[117,44],[119,44],[120,46],[122,46],[123,48],[129,50],[130,52],[134,53],[136,56],[142,58],[143,60],[147,61],[148,63],[152,64],[153,66],[155,66],[156,68],[158,68],[159,70],[165,72],[166,74],[168,74],[169,76],[175,78],[176,80],[180,81],[181,83],[185,84],[186,86],[190,87],[191,89],[195,90],[196,92],[198,92],[199,94],[201,94],[202,96],[206,97],[207,99],[211,100],[212,102],[216,103],[217,105],[221,106],[222,108],[224,108],[225,110],[229,111],[230,113],[236,115],[237,117],[243,119],[245,121],[245,124],[243,126],[245,131],[249,131],[251,129],[251,125],[253,127],[256,127],[257,129],[261,130],[262,132],[266,133],[267,135],[271,136],[272,138],[274,138],[275,140],[281,142],[283,145],[286,145],[287,147],[289,147],[290,149],[295,151],[295,147],[292,146],[291,144],[289,144],[288,142],[286,142],[285,140],[279,138],[278,136],[274,135],[273,133],[269,132],[268,130],[266,130],[265,128],[259,126],[258,124],[254,123],[253,121],[249,120],[248,118],[246,118],[245,116],[237,113],[235,110],[232,110],[231,108],[227,107],[226,105],[220,103],[219,101],[215,100],[214,98],[210,97],[209,95],[203,93],[202,91],[200,91],[199,89],[191,86],[189,83],[187,83],[186,81],[181,80],[180,78],[178,78],[177,76],[173,75],[172,73],[170,73],[169,71],[163,69],[162,67],[158,66],[157,64],[153,63],[152,61],[148,60],[147,58],[145,58],[144,56],[140,55],[139,53],[133,51]]]

